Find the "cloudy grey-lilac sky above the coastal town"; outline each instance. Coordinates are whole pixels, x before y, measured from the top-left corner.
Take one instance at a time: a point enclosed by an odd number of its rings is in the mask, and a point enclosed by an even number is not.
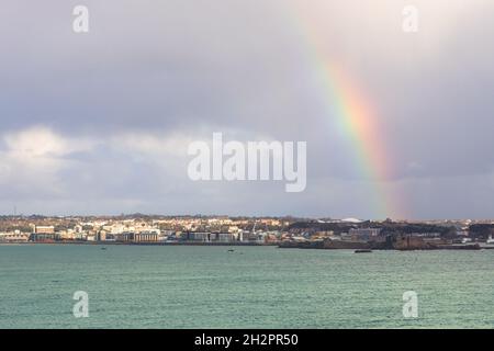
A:
[[[492,218],[493,42],[491,0],[2,0],[0,214]],[[385,177],[321,64],[371,106]],[[190,180],[214,132],[306,141],[305,191]]]

